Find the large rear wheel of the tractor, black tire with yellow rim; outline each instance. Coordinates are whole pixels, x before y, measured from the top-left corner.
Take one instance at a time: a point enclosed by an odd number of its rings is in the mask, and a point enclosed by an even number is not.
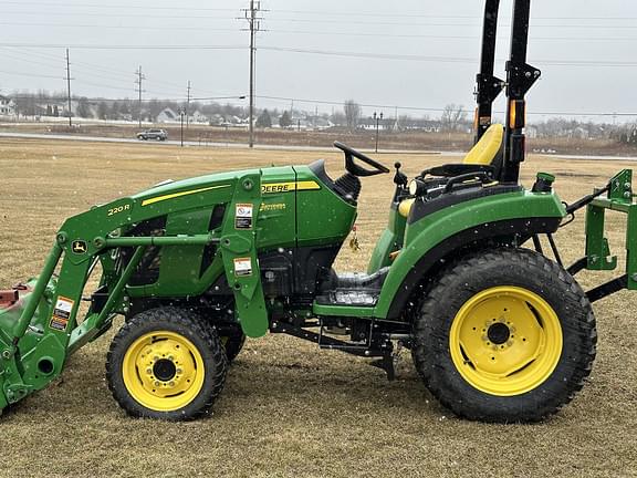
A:
[[[573,277],[526,249],[466,256],[443,270],[414,323],[416,368],[459,416],[536,422],[591,373],[595,318]]]

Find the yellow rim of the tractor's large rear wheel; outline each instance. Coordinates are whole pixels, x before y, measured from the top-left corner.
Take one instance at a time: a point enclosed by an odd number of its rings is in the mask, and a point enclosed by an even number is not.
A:
[[[487,289],[456,314],[451,360],[481,392],[513,396],[541,385],[562,354],[557,314],[540,295],[518,287]]]

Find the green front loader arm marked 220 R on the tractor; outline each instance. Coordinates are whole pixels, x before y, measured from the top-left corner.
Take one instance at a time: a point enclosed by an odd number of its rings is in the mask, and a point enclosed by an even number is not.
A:
[[[70,353],[103,334],[116,313],[127,311],[128,282],[148,248],[177,248],[187,261],[189,249],[196,249],[194,256],[200,257],[201,248],[219,246],[227,264],[228,283],[238,304],[239,321],[250,335],[265,333],[268,315],[260,293],[255,258],[254,221],[261,204],[260,175],[259,170],[247,170],[226,177],[215,175],[213,181],[203,177],[197,181],[176,183],[69,218],[60,228],[32,289],[23,291],[12,314],[0,314],[3,370],[0,409],[46,386],[60,375]],[[236,215],[228,214],[220,230],[163,237],[126,236],[134,225],[158,216],[187,217],[201,214],[203,209],[210,217],[213,205],[226,204],[233,210],[238,202],[250,205],[254,211],[249,227],[238,226]],[[122,248],[133,250],[126,263],[121,258]],[[241,257],[248,260],[251,273],[237,272],[237,259]],[[86,316],[79,323],[86,282],[100,260],[104,269],[100,288],[103,300],[93,300]],[[200,281],[192,281],[195,292],[201,287]]]

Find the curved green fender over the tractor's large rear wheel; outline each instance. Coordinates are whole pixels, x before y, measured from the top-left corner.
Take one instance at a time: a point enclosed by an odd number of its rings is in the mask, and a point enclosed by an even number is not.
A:
[[[374,316],[400,320],[415,288],[455,251],[489,239],[520,245],[535,233],[554,232],[565,215],[555,194],[520,190],[452,205],[408,224]]]

